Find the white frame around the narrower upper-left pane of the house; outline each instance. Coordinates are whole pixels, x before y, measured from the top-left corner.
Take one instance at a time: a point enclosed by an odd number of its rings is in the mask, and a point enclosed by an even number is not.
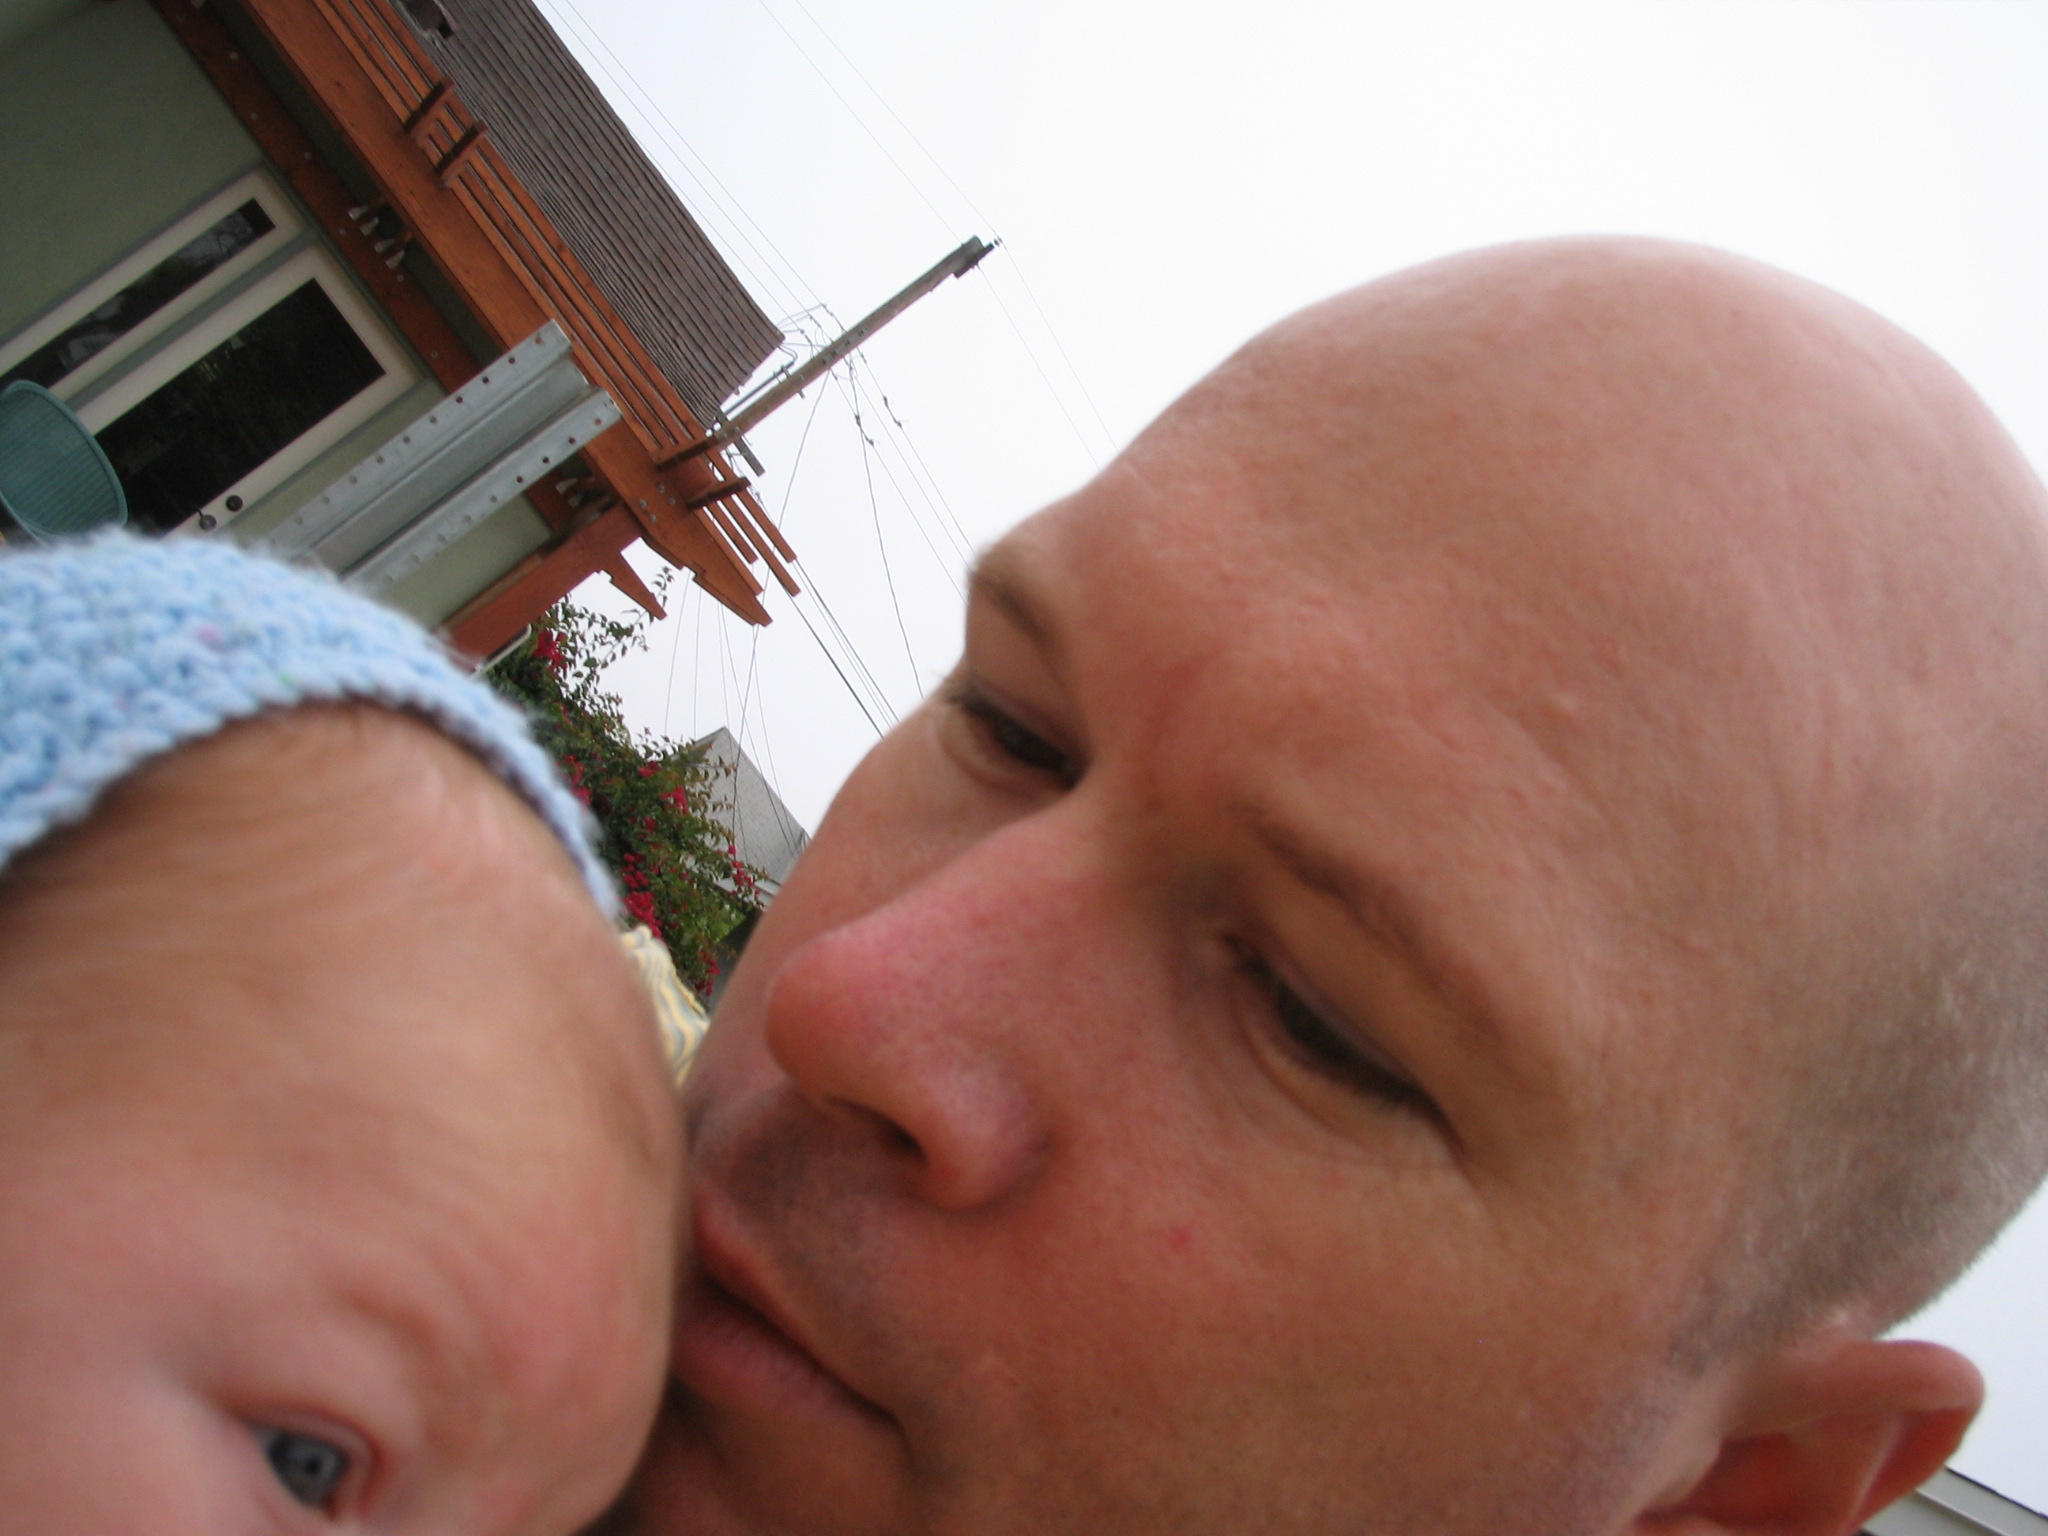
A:
[[[279,186],[276,178],[262,170],[252,170],[250,174],[236,178],[174,225],[150,240],[133,256],[125,258],[82,287],[78,293],[70,295],[63,303],[29,326],[29,330],[16,332],[6,342],[0,342],[0,373],[6,373],[39,346],[45,346],[53,338],[68,332],[84,315],[98,309],[129,283],[139,279],[172,252],[188,246],[250,199],[254,199],[262,211],[270,215],[268,233],[258,236],[246,250],[238,250],[229,260],[207,272],[190,289],[166,303],[154,315],[139,322],[127,336],[109,344],[96,356],[86,358],[51,385],[51,393],[63,401],[88,391],[96,379],[104,379],[111,371],[121,367],[123,360],[135,356],[135,352],[145,348],[158,336],[176,328],[178,322],[205,305],[213,295],[240,283],[250,268],[266,262],[276,250],[303,233],[305,219],[299,215],[297,203],[293,203],[285,188]]]

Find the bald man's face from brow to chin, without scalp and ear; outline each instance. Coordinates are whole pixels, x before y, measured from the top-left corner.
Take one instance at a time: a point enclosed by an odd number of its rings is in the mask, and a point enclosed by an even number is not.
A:
[[[1597,582],[1362,526],[1141,442],[985,559],[688,1087],[651,1530],[1579,1530],[1681,1473],[1710,786],[1630,756]]]

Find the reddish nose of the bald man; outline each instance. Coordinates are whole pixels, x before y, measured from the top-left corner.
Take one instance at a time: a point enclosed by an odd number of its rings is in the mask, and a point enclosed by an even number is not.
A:
[[[1049,1053],[1065,1014],[1094,1012],[1073,977],[1104,938],[1083,932],[1104,903],[1063,856],[1073,831],[1053,813],[975,844],[791,954],[768,995],[768,1049],[797,1092],[915,1200],[993,1204],[1051,1151]]]

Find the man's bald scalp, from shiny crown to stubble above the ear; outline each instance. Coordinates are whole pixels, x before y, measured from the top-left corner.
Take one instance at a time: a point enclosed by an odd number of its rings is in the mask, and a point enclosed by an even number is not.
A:
[[[1503,670],[1634,737],[1575,772],[1755,989],[1683,1350],[1929,1300],[2048,1169],[2048,504],[1982,401],[1786,272],[1561,240],[1282,322],[1130,469],[1210,434],[1313,543],[1456,547]]]

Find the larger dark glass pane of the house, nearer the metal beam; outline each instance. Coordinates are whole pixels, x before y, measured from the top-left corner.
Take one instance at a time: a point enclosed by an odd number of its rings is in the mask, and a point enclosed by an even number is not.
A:
[[[174,528],[383,377],[383,365],[307,281],[98,438],[129,522]]]

